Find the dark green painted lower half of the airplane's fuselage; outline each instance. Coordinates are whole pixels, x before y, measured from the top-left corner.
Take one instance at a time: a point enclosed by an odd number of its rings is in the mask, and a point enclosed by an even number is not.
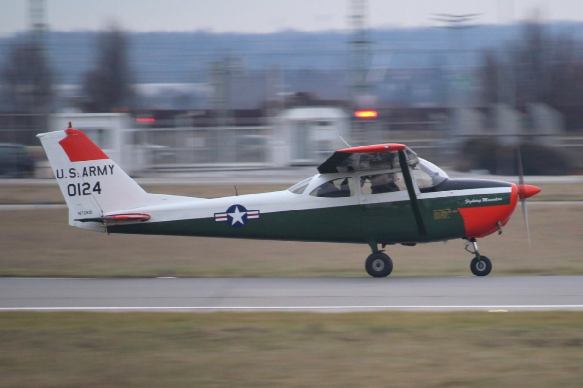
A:
[[[472,201],[474,197],[480,202]],[[248,219],[243,227],[210,217],[113,225],[107,231],[341,243],[429,243],[465,238],[465,224],[458,208],[489,204],[484,201],[488,197],[496,198],[492,202],[496,205],[510,203],[510,193],[420,199],[424,230],[419,229],[410,201],[395,201],[261,213],[258,219]]]

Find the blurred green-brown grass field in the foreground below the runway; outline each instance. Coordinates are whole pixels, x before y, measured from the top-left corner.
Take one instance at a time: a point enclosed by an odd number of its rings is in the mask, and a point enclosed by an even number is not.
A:
[[[581,387],[583,313],[0,314],[0,387]]]

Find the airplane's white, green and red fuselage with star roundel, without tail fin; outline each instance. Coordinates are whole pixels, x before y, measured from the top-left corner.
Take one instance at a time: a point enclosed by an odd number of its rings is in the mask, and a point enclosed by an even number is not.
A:
[[[408,191],[366,192],[364,173],[318,174],[289,190],[132,209],[147,222],[109,225],[110,233],[236,237],[342,243],[416,244],[483,237],[514,211],[517,185],[445,179],[418,189],[418,212]],[[351,182],[346,195],[318,196],[326,182]],[[303,187],[301,187],[303,186]],[[359,187],[360,186],[360,187]]]

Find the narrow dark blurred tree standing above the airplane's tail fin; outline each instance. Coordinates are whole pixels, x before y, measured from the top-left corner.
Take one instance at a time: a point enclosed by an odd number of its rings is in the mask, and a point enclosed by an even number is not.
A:
[[[127,35],[117,27],[101,33],[97,41],[96,67],[83,79],[85,111],[111,112],[127,109],[135,98],[128,60]]]

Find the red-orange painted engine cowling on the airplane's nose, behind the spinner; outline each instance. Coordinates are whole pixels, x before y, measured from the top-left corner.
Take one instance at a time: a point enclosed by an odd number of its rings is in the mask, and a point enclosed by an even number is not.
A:
[[[494,205],[494,206],[480,206],[473,208],[459,208],[459,214],[463,218],[465,224],[466,237],[484,237],[488,234],[497,232],[498,221],[505,226],[512,212],[518,203],[518,187],[512,183],[510,191],[510,204],[508,205]]]

